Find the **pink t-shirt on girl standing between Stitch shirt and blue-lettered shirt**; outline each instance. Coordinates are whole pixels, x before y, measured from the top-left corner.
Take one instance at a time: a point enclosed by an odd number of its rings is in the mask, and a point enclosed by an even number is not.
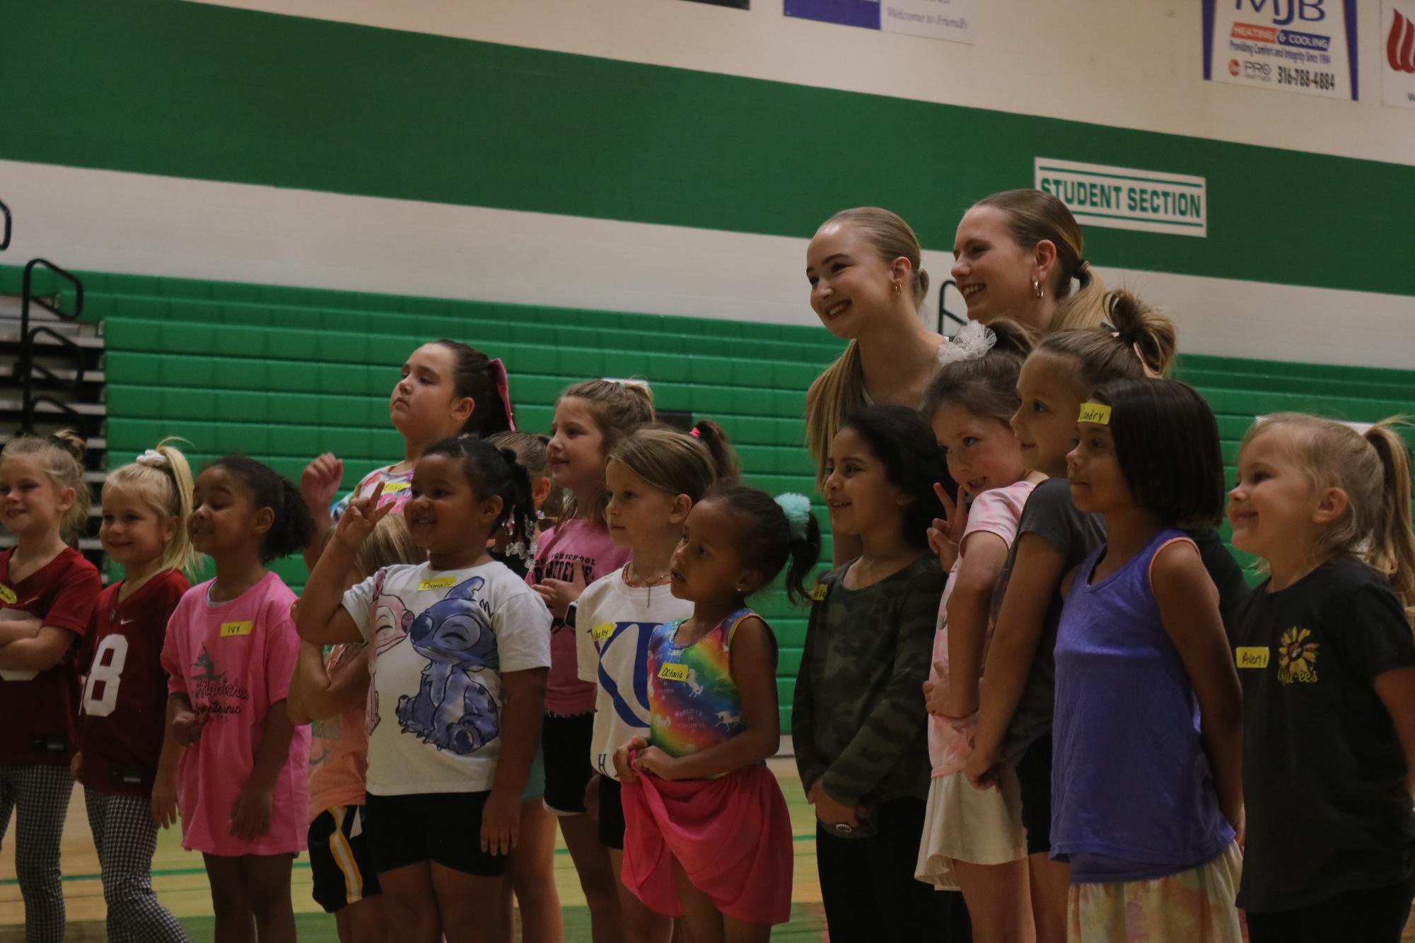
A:
[[[628,563],[628,547],[616,547],[604,525],[573,519],[541,534],[535,563],[526,582],[574,578],[579,568],[584,585]],[[552,714],[589,714],[594,710],[594,684],[580,680],[574,653],[574,631],[565,619],[550,623],[550,676],[546,679],[545,710]]]

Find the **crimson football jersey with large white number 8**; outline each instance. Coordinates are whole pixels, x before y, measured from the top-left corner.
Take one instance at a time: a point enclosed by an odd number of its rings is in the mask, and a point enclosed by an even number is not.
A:
[[[79,782],[103,793],[147,796],[167,720],[163,640],[188,582],[175,570],[163,570],[119,602],[122,585],[103,590],[93,608],[79,714]]]

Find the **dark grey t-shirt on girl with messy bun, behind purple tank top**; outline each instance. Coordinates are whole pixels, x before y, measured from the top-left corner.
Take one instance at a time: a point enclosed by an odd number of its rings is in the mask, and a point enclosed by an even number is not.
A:
[[[1027,506],[1022,509],[1017,525],[1017,539],[1007,551],[1007,563],[998,581],[998,599],[1007,591],[1012,567],[1017,558],[1022,539],[1034,533],[1061,554],[1061,573],[1067,574],[1081,566],[1091,553],[1105,543],[1105,519],[1075,509],[1071,503],[1071,485],[1065,478],[1049,478],[1036,486]],[[1009,763],[1016,763],[1033,742],[1051,734],[1051,714],[1056,701],[1056,646],[1057,625],[1061,622],[1061,587],[1057,584],[1041,618],[1041,639],[1037,653],[1027,672],[1027,686],[1017,701],[1017,710],[1007,724],[1002,739],[1002,755]]]

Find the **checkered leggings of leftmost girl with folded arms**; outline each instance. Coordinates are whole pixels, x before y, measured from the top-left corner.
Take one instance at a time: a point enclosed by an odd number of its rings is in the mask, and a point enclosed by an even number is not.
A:
[[[74,780],[68,765],[0,765],[0,836],[14,826],[14,871],[24,896],[24,939],[64,943],[59,838]]]

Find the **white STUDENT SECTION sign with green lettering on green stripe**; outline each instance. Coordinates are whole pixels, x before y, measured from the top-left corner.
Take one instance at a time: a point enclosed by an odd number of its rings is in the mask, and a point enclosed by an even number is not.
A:
[[[1112,229],[1208,235],[1203,177],[1037,157],[1034,185],[1067,205],[1077,222]]]

